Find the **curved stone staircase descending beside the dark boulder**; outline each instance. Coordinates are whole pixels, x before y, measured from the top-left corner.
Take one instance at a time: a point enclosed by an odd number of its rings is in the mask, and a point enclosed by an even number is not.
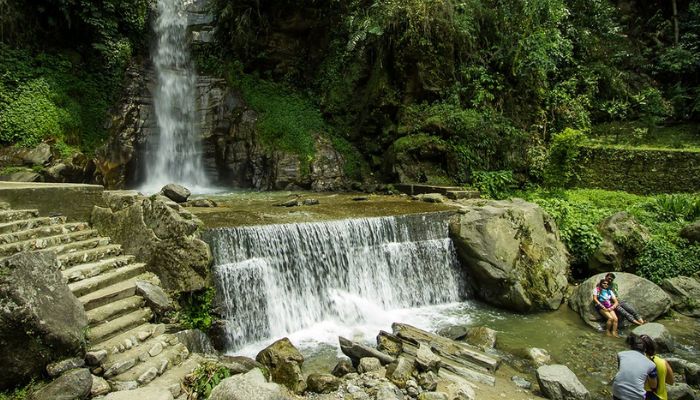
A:
[[[0,210],[0,258],[23,251],[55,253],[68,287],[85,308],[85,361],[93,382],[106,388],[104,379],[111,391],[157,386],[174,398],[187,398],[181,382],[200,358],[189,357],[187,347],[166,334],[163,324],[151,323],[154,313],[137,282],[159,285],[159,280],[145,264],[87,223],[41,217],[37,210]]]

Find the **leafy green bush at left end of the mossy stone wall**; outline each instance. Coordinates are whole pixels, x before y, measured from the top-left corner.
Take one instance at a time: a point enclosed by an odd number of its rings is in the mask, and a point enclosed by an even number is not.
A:
[[[581,145],[587,138],[583,132],[566,128],[554,136],[549,149],[549,165],[545,172],[545,183],[551,187],[566,187],[578,179],[578,165]]]

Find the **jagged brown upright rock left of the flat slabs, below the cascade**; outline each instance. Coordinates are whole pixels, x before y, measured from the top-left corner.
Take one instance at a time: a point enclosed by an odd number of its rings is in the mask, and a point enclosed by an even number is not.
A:
[[[304,356],[287,338],[282,338],[263,349],[255,360],[270,370],[273,382],[301,394],[306,389],[306,380],[301,373]]]

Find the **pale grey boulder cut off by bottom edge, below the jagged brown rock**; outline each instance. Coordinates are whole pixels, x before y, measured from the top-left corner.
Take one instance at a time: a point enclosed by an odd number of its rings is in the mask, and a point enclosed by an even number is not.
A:
[[[267,382],[262,372],[255,368],[245,374],[226,378],[211,391],[209,400],[292,400],[285,388]]]

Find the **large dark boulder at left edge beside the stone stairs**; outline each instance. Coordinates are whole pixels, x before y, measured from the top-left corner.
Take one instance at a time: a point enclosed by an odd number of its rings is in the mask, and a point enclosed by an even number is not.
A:
[[[83,306],[54,254],[21,253],[0,261],[0,390],[40,375],[53,361],[82,356],[86,327]]]

